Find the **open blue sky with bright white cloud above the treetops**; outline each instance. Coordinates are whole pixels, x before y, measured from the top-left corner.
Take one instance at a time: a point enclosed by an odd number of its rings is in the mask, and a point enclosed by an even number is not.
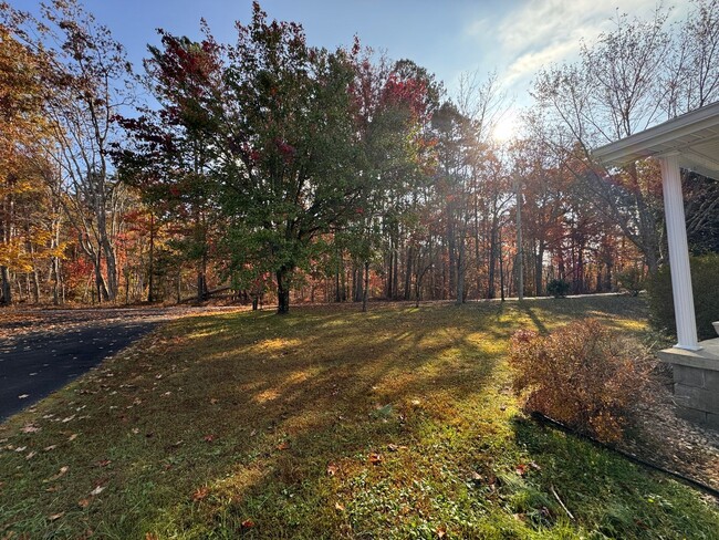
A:
[[[37,0],[10,0],[35,11]],[[581,40],[611,30],[617,13],[649,19],[657,0],[264,0],[270,19],[299,22],[312,45],[364,45],[394,60],[409,59],[457,91],[462,73],[496,72],[515,107],[542,66],[576,60]],[[665,0],[682,17],[689,0]],[[249,22],[250,0],[84,0],[138,64],[157,28],[199,38],[205,18],[220,42],[235,40],[233,21]],[[507,127],[514,114],[507,116]]]

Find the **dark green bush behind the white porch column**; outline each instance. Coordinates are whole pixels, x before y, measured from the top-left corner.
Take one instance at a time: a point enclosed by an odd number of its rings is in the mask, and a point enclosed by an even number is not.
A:
[[[691,288],[694,309],[697,316],[699,340],[709,340],[717,334],[711,325],[719,321],[719,253],[691,257]],[[649,321],[661,331],[677,334],[671,297],[671,274],[665,266],[649,280]]]

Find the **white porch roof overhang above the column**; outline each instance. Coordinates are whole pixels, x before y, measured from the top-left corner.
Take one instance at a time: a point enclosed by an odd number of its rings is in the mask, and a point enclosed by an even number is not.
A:
[[[719,102],[596,148],[606,166],[677,154],[681,168],[719,178]]]

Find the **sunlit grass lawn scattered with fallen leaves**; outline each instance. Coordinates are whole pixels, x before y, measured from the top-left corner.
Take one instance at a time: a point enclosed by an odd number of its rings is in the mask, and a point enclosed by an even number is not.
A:
[[[519,413],[508,338],[584,314],[644,328],[624,297],[176,321],[0,427],[0,538],[719,538]]]

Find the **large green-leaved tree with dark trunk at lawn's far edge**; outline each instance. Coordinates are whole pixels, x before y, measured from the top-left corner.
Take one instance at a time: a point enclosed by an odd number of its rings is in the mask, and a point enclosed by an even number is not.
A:
[[[356,209],[364,178],[346,53],[306,45],[302,27],[268,22],[258,3],[228,48],[223,209],[233,266],[274,273],[278,312],[313,239]],[[239,165],[238,165],[239,163]]]

